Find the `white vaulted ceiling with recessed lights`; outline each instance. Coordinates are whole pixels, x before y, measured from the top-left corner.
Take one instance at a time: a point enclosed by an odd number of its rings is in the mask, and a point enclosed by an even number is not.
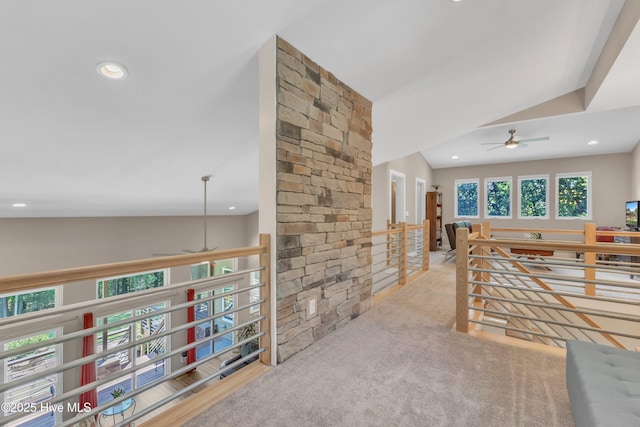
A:
[[[275,34],[373,101],[374,164],[629,152],[639,2],[616,24],[623,0],[2,0],[0,217],[198,215],[207,174],[209,213],[257,210],[257,52]],[[605,46],[612,30],[626,42]],[[99,76],[105,60],[128,78]],[[586,112],[483,126],[590,84]],[[551,139],[480,145],[511,127]]]

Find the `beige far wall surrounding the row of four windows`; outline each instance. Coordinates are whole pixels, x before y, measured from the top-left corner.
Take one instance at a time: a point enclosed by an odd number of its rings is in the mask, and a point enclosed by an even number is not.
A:
[[[511,176],[514,190],[517,188],[517,178],[522,175],[548,174],[550,184],[550,218],[548,220],[518,220],[492,219],[491,224],[500,227],[535,227],[581,229],[587,221],[556,220],[555,212],[555,174],[562,172],[592,172],[593,220],[598,225],[623,226],[624,202],[633,198],[634,193],[628,185],[632,177],[632,160],[629,154],[611,154],[602,156],[572,157],[530,162],[502,163],[483,166],[469,166],[459,168],[436,169],[435,180],[441,185],[444,204],[444,223],[454,220],[454,180],[460,178],[480,179],[480,219],[472,222],[486,221],[484,218],[485,195],[483,191],[484,178]],[[517,192],[514,191],[514,201]],[[514,214],[517,204],[514,204]]]

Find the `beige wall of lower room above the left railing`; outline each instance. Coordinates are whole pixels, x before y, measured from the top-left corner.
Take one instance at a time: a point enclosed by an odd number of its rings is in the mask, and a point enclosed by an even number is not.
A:
[[[0,276],[198,251],[203,233],[202,217],[3,218]],[[208,217],[210,249],[256,239],[257,213]]]

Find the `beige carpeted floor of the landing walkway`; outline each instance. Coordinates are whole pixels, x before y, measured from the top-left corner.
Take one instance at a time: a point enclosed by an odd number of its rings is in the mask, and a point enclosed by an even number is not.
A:
[[[571,426],[562,357],[453,332],[452,261],[187,426]]]

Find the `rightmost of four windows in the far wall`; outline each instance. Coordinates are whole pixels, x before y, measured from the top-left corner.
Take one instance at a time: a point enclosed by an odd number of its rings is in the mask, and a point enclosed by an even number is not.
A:
[[[591,172],[556,175],[556,218],[591,219]]]

